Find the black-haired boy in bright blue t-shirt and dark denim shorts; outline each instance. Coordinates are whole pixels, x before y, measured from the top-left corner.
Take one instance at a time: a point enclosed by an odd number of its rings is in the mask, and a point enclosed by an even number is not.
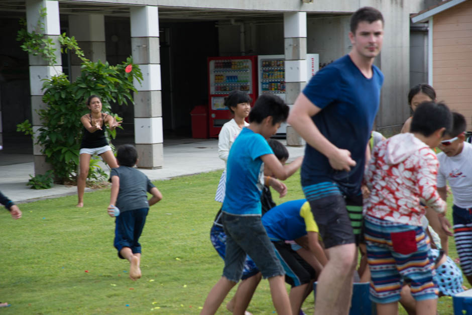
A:
[[[249,127],[241,131],[229,150],[222,207],[226,234],[223,275],[208,293],[201,314],[216,312],[229,290],[241,279],[246,255],[253,259],[263,277],[269,279],[277,312],[292,313],[284,269],[261,222],[260,201],[264,185],[263,162],[278,179],[285,180],[290,174],[266,141],[287,120],[288,112],[288,106],[280,97],[261,95],[249,114]]]

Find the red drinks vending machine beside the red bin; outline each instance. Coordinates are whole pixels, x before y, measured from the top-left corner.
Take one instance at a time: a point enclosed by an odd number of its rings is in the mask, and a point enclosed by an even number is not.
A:
[[[231,91],[247,92],[254,104],[258,93],[257,69],[257,56],[208,58],[210,138],[218,137],[221,127],[232,118],[224,106],[224,97]]]

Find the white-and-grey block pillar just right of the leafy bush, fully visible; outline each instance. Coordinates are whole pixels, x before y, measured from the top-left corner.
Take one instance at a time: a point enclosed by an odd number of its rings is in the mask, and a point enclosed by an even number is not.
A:
[[[135,143],[138,167],[162,168],[163,132],[161,106],[161,65],[159,56],[159,15],[156,6],[132,7],[131,46],[133,61],[143,72],[143,81],[134,82]]]

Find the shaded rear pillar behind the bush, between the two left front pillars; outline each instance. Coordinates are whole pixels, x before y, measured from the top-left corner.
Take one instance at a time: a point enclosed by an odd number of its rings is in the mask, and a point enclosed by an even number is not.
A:
[[[83,50],[85,58],[105,63],[105,17],[98,14],[69,16],[69,33],[74,36],[79,47]],[[70,79],[80,76],[80,64],[82,60],[72,53],[70,58]]]

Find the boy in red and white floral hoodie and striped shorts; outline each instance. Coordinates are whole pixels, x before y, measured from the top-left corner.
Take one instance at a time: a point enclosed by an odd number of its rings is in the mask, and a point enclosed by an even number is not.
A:
[[[430,149],[451,128],[449,109],[423,102],[416,109],[410,132],[374,148],[365,171],[371,191],[364,204],[367,256],[372,274],[371,300],[379,314],[398,312],[403,279],[411,280],[417,314],[435,314],[437,286],[429,260],[429,238],[421,218],[423,204],[444,216],[446,203],[436,191],[438,161]]]

